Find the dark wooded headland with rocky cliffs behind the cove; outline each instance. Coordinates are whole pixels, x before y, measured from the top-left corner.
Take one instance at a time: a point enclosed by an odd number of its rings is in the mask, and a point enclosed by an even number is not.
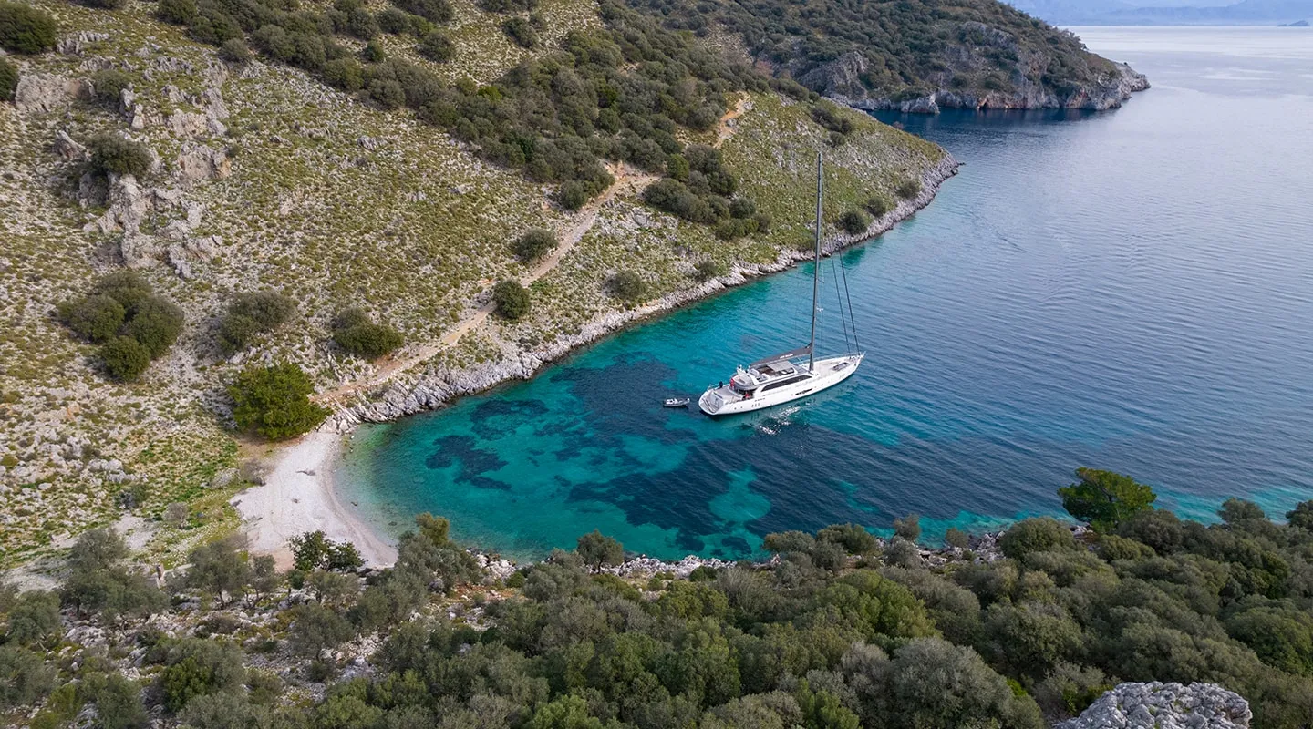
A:
[[[867,109],[1112,109],[1148,80],[993,0],[633,0],[670,28],[722,34],[754,62]]]

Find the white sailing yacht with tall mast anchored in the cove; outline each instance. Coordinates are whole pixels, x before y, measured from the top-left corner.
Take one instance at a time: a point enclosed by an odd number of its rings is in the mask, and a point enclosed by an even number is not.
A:
[[[821,294],[821,201],[825,194],[821,177],[822,164],[822,156],[817,153],[817,240],[815,270],[811,279],[811,338],[807,341],[807,346],[781,351],[747,367],[739,366],[729,384],[706,388],[706,392],[697,400],[697,406],[709,416],[747,413],[814,395],[852,376],[867,355],[864,351],[857,351],[823,359],[815,358],[817,312],[819,311],[818,298]],[[847,282],[844,288],[847,288]],[[850,319],[851,308],[850,304]],[[847,340],[847,337],[844,338]]]

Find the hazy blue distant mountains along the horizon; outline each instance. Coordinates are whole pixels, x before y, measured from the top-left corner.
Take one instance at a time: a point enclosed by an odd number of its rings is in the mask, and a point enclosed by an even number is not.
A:
[[[1173,3],[1163,5],[1162,3]],[[1295,25],[1313,16],[1313,0],[1012,0],[1054,25]]]

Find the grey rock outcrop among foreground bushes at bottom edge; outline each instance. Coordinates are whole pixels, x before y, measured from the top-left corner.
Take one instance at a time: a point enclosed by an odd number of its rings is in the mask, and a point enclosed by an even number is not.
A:
[[[1249,701],[1213,683],[1123,683],[1054,729],[1247,729]]]

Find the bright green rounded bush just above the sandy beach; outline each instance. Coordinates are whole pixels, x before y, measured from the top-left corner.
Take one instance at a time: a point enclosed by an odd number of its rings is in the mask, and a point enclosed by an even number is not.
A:
[[[310,401],[311,392],[310,375],[290,362],[248,367],[228,387],[232,420],[270,441],[301,435],[328,417],[326,408]]]

